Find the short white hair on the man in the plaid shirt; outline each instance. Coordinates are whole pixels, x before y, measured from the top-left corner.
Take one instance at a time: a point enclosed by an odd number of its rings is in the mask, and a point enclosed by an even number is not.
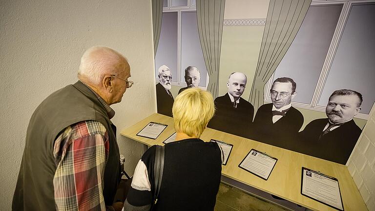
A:
[[[105,74],[117,74],[127,59],[116,50],[105,46],[87,49],[81,58],[78,78],[86,83],[98,85]],[[125,68],[125,66],[124,66]]]

